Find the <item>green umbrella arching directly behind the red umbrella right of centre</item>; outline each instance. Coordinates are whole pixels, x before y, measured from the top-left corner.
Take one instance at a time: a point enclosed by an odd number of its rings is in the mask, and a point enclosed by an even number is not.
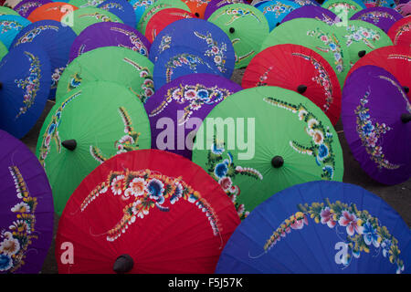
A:
[[[350,70],[350,53],[335,27],[313,18],[295,18],[274,28],[261,50],[282,44],[311,48],[325,58],[342,86]]]

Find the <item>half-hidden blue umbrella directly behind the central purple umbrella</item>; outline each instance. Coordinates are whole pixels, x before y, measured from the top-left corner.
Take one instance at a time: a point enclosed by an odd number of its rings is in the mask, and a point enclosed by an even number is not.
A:
[[[202,57],[196,50],[188,47],[172,47],[165,50],[154,63],[154,89],[175,78],[193,73],[209,73],[223,76],[208,57]]]

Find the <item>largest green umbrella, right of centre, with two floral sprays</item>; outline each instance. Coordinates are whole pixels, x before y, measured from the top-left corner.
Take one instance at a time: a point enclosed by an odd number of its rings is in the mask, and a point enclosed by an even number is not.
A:
[[[220,183],[241,218],[285,188],[341,182],[343,173],[331,121],[310,99],[278,87],[244,89],[220,102],[196,133],[193,162]]]

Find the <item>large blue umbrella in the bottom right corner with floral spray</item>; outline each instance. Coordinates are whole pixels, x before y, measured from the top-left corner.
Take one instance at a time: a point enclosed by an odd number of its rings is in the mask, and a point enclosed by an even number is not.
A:
[[[339,182],[294,185],[237,227],[216,273],[388,274],[411,271],[411,232],[384,200]]]

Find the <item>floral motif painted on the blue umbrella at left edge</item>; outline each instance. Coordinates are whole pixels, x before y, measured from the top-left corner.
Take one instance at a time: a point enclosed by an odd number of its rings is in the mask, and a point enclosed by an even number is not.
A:
[[[34,104],[37,96],[37,91],[40,88],[41,78],[41,64],[38,57],[34,56],[30,52],[24,52],[28,61],[30,62],[30,68],[28,68],[28,76],[24,79],[16,79],[15,83],[17,88],[24,90],[23,103],[24,106],[19,109],[15,119],[18,119],[22,114],[25,114],[28,109]]]

